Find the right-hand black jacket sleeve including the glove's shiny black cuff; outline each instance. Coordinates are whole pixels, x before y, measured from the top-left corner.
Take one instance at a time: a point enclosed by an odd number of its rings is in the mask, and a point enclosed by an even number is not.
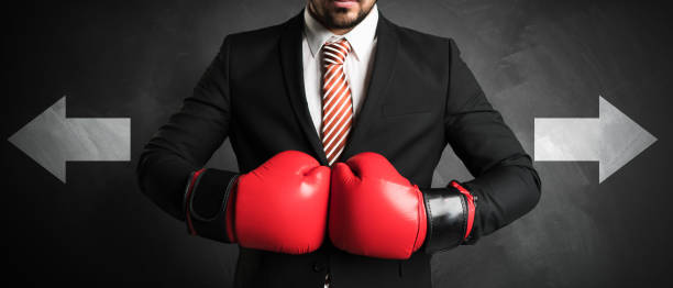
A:
[[[428,252],[474,244],[528,213],[540,199],[540,178],[531,157],[486,99],[453,40],[449,42],[451,75],[445,135],[474,176],[460,186],[475,197],[476,211],[472,230],[464,237],[467,222],[464,195],[451,185],[424,189],[430,217]]]

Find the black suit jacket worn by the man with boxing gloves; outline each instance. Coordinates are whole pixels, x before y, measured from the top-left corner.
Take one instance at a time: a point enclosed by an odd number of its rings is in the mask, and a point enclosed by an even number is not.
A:
[[[207,169],[192,191],[190,207],[201,236],[228,242],[222,215],[238,174],[287,149],[328,163],[304,92],[302,13],[278,25],[227,35],[194,95],[142,153],[142,191],[185,220],[190,175],[230,137],[240,171]],[[487,101],[455,43],[398,26],[383,15],[376,33],[371,84],[340,160],[376,152],[424,192],[451,195],[449,187],[430,188],[442,151],[451,145],[475,177],[463,184],[478,197],[470,241],[442,243],[446,231],[430,226],[427,242],[434,241],[435,248],[422,248],[408,261],[351,255],[334,248],[329,237],[305,255],[241,248],[235,286],[318,288],[329,270],[336,288],[431,287],[430,256],[438,247],[475,244],[537,204],[540,180],[529,155]]]

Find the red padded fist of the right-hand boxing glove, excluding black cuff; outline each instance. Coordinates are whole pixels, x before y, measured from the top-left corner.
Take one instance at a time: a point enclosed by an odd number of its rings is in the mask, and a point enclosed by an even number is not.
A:
[[[426,239],[423,195],[383,155],[365,152],[332,167],[329,235],[352,254],[406,259]]]

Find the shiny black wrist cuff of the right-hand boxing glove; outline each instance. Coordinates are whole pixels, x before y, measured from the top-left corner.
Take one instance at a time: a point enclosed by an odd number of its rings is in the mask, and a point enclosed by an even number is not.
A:
[[[424,251],[434,253],[464,243],[474,221],[474,199],[457,181],[446,188],[422,189],[428,215]]]

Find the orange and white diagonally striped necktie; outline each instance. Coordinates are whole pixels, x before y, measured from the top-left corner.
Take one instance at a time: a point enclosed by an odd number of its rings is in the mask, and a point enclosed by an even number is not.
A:
[[[351,52],[345,38],[322,46],[322,146],[329,165],[339,158],[351,132],[353,101],[343,63]]]

